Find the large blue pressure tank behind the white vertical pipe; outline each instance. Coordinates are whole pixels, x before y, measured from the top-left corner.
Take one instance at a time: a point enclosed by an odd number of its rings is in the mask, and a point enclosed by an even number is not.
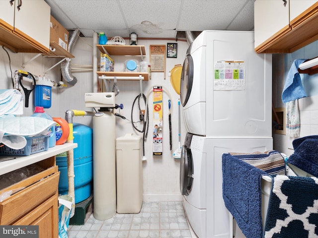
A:
[[[74,143],[78,147],[74,149],[74,186],[75,203],[87,199],[92,192],[93,179],[93,129],[80,123],[73,124]],[[68,162],[67,153],[56,156],[56,164],[59,167],[60,181],[59,193],[68,194]]]

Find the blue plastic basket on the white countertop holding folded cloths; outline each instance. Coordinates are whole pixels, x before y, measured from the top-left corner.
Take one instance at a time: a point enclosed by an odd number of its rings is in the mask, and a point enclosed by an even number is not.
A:
[[[49,149],[49,135],[26,138],[26,146],[19,150],[11,149],[6,145],[0,147],[0,155],[27,156]]]

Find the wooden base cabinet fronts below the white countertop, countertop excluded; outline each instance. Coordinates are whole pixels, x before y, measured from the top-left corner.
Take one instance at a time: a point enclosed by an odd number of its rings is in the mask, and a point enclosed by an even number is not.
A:
[[[36,164],[43,168],[51,163],[54,157]],[[2,189],[0,193],[22,188],[0,203],[0,225],[38,225],[40,238],[57,238],[59,178],[54,165]]]

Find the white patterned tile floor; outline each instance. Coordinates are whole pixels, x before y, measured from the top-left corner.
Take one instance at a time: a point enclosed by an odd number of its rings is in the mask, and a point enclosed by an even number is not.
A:
[[[93,214],[82,226],[69,226],[68,238],[195,238],[182,201],[143,202],[138,214],[116,214],[105,221]]]

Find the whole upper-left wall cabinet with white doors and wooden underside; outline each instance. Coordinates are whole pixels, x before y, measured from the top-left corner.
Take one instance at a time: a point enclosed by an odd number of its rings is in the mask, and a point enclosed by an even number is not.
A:
[[[14,52],[49,52],[51,8],[44,0],[13,0],[12,5],[1,0],[0,8],[0,45]]]

